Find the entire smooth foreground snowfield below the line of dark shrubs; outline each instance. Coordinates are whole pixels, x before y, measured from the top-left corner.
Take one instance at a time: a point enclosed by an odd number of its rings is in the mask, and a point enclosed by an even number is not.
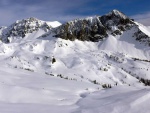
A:
[[[103,89],[3,66],[0,78],[1,113],[149,113],[149,87]]]

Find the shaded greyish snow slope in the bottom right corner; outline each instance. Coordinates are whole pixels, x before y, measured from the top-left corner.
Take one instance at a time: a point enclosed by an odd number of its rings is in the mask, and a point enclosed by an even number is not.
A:
[[[115,87],[80,99],[75,113],[149,113],[149,101],[149,88]]]

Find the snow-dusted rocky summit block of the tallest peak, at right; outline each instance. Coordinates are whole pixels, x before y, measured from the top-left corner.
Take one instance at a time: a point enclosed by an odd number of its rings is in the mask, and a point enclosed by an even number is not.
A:
[[[117,10],[102,16],[101,22],[112,35],[120,35],[135,25],[132,19]]]

